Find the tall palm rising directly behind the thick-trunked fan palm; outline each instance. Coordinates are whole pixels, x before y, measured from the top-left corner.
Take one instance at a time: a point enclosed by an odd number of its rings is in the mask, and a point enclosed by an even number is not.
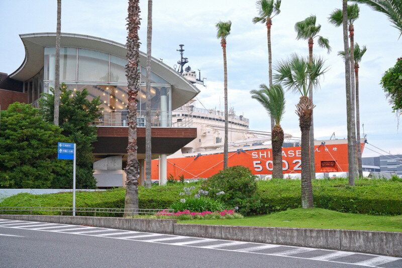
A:
[[[331,46],[329,44],[329,40],[327,38],[324,38],[318,33],[321,30],[321,25],[316,25],[317,22],[317,17],[316,16],[310,16],[306,18],[304,21],[297,22],[294,25],[294,30],[297,32],[297,40],[303,39],[303,40],[308,40],[309,44],[309,62],[313,62],[313,45],[314,45],[314,39],[317,38],[318,41],[318,46],[321,48],[326,48],[328,50],[328,53],[331,52]],[[313,90],[310,88],[309,89],[309,98],[313,101]],[[312,113],[311,115],[311,127],[310,127],[310,159],[311,159],[311,167],[310,167],[310,172],[311,172],[311,178],[315,179],[316,178],[316,157],[315,157],[315,146],[314,146],[314,115]]]

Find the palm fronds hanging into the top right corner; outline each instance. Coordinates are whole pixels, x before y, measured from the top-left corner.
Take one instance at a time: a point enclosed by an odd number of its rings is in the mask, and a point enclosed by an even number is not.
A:
[[[400,0],[352,0],[360,4],[366,4],[373,10],[382,12],[388,17],[393,27],[402,35],[402,2]]]

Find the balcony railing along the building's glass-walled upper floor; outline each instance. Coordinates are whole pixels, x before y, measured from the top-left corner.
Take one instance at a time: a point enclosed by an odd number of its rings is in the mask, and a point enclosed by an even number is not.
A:
[[[128,126],[128,110],[103,110],[102,117],[92,122],[95,126]],[[145,127],[145,111],[137,111],[137,126]],[[172,112],[151,110],[151,126],[171,127]]]

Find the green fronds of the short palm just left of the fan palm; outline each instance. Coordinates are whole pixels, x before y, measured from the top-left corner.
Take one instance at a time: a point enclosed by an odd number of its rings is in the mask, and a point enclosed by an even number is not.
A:
[[[259,88],[259,90],[250,91],[251,97],[264,106],[268,114],[274,118],[275,124],[280,124],[286,103],[282,86],[273,85],[268,88],[265,84],[261,84]]]

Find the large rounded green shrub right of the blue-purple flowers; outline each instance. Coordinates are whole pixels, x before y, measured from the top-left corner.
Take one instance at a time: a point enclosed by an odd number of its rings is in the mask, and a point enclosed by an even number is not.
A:
[[[221,170],[202,183],[202,189],[210,196],[219,198],[231,208],[238,206],[242,200],[251,198],[257,190],[255,175],[244,166]],[[220,193],[224,194],[220,195]],[[218,194],[218,195],[217,195]]]

